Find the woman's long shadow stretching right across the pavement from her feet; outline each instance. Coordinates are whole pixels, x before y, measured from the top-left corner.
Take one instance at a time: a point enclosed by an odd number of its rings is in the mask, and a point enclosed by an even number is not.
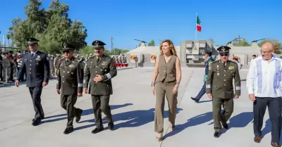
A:
[[[187,122],[185,122],[184,124],[176,125],[176,128],[172,132],[169,132],[168,134],[166,134],[164,136],[164,139],[166,139],[170,136],[174,136],[174,135],[182,132],[184,129],[186,129],[188,127],[204,124],[204,123],[209,122],[211,120],[212,120],[212,112],[204,113],[202,115],[197,115],[195,117],[192,117],[189,120],[187,120]]]

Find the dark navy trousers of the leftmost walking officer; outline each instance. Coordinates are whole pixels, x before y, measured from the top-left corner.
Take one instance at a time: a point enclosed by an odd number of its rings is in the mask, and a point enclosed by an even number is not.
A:
[[[41,117],[44,117],[44,111],[41,105],[41,94],[43,87],[29,87],[29,89],[33,108],[35,109],[35,120],[41,120]]]

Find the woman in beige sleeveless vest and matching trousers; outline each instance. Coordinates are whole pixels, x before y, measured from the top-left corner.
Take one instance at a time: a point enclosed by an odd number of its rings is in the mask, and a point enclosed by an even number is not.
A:
[[[171,40],[166,39],[159,46],[161,55],[156,60],[152,78],[152,91],[155,95],[154,131],[157,141],[161,141],[164,132],[164,97],[168,101],[168,120],[171,129],[175,127],[178,86],[181,79],[180,60]],[[158,77],[158,78],[157,78]],[[157,80],[156,80],[157,79]]]

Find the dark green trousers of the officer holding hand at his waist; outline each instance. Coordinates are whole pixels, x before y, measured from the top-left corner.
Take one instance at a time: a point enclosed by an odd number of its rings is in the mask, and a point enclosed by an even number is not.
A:
[[[110,96],[94,96],[91,95],[92,106],[94,110],[94,117],[96,122],[96,127],[102,127],[102,112],[106,115],[108,123],[113,122],[113,117],[111,115],[111,108],[109,106]]]

